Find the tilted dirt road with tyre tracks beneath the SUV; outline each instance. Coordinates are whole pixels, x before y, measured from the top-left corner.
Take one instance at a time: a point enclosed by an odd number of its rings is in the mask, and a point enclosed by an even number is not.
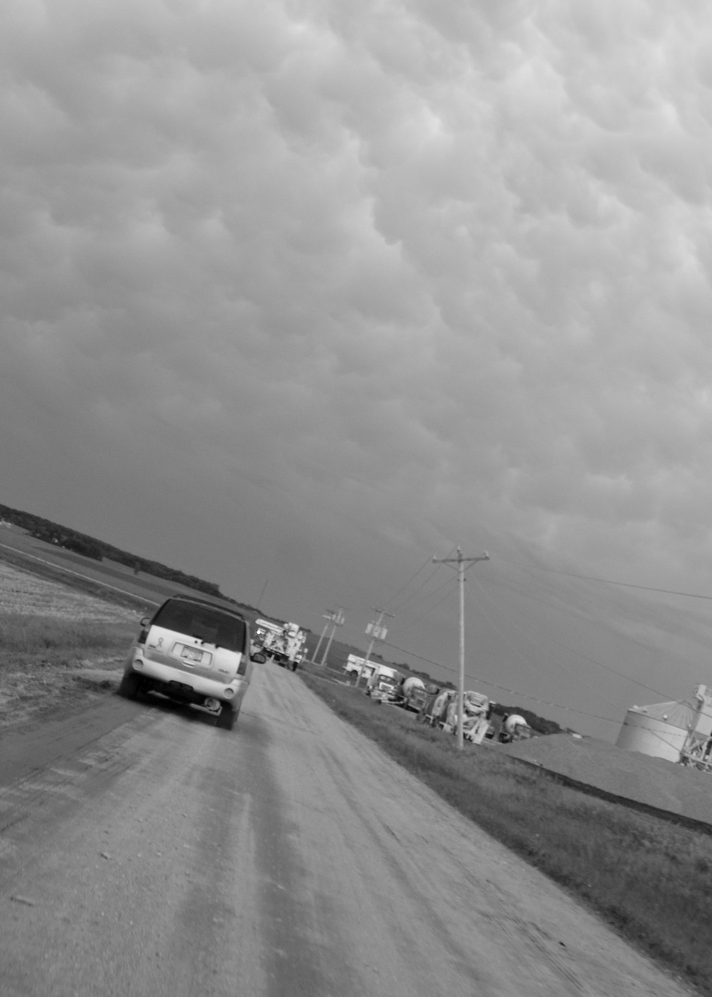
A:
[[[116,699],[0,741],[3,997],[687,993],[255,673],[232,733]]]

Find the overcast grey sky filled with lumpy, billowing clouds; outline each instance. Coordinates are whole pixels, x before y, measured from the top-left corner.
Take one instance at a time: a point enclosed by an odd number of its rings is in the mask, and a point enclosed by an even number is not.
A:
[[[574,577],[712,594],[707,4],[0,26],[0,502],[445,670],[488,550],[474,687],[608,739],[712,685],[708,600]]]

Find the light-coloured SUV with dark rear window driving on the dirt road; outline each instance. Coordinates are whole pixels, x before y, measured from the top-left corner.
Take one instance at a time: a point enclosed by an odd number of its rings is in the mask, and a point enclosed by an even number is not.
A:
[[[136,699],[157,692],[190,703],[215,717],[217,727],[232,729],[252,675],[249,627],[228,608],[192,595],[174,595],[153,616],[141,621],[119,694]]]

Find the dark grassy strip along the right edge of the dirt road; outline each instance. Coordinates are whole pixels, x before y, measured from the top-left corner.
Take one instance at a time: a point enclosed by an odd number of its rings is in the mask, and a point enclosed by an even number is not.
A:
[[[414,714],[377,706],[312,670],[300,674],[449,804],[712,995],[712,835],[586,796],[492,745],[459,753],[452,735]]]

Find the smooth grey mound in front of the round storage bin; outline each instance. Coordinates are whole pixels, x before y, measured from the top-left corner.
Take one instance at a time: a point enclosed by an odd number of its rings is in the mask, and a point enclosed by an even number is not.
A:
[[[551,734],[499,748],[605,793],[712,825],[712,775],[570,734]]]

